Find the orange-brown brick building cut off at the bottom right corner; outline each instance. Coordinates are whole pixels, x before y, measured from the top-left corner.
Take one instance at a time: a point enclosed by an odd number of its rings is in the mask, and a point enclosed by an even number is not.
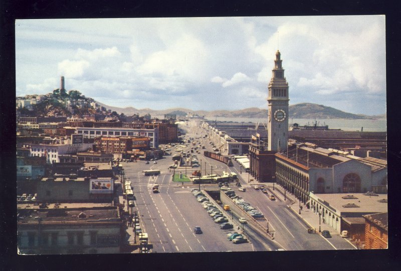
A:
[[[363,215],[365,218],[365,249],[388,247],[388,213]]]

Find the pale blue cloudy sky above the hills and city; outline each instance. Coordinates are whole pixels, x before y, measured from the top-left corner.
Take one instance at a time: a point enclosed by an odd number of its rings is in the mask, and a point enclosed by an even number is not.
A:
[[[60,86],[110,106],[267,108],[281,52],[290,105],[386,112],[385,17],[16,21],[16,95]]]

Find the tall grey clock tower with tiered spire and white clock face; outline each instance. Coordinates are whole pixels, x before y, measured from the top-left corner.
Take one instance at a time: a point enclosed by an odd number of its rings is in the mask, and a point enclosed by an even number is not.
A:
[[[286,151],[288,142],[288,83],[281,66],[280,52],[276,52],[273,77],[269,83],[268,150]]]

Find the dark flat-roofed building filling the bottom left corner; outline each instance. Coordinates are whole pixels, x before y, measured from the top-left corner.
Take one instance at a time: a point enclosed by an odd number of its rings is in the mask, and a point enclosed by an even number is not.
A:
[[[110,205],[18,206],[19,253],[119,253],[124,223],[118,207]]]

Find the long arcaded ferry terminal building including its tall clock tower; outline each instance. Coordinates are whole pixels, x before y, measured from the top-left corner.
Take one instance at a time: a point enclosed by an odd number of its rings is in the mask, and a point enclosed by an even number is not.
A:
[[[276,182],[304,204],[310,193],[386,193],[387,162],[357,157],[288,138],[289,86],[281,54],[276,52],[268,85],[268,142],[252,136],[250,174],[258,182]]]

